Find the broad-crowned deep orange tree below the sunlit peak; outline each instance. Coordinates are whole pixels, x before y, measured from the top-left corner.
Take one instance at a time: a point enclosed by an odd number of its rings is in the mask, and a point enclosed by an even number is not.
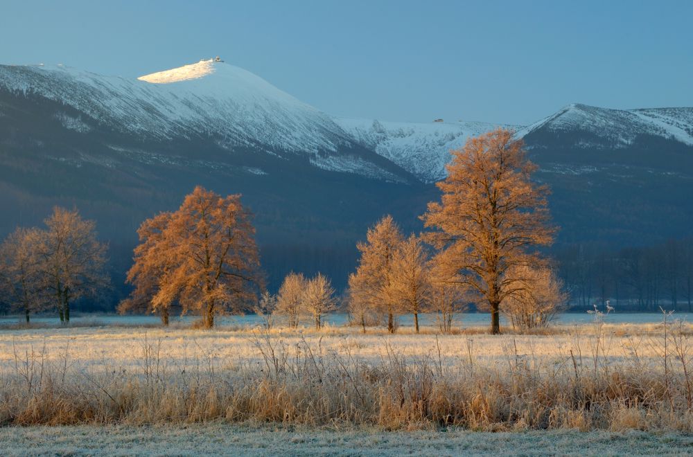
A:
[[[255,229],[240,195],[198,186],[180,208],[145,221],[128,280],[152,310],[178,303],[212,328],[216,314],[254,301],[262,288]]]

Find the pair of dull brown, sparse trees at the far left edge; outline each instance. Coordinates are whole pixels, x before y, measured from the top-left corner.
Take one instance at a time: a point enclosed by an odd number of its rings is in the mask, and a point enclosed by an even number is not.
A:
[[[107,245],[94,221],[56,207],[44,228],[17,228],[0,245],[0,296],[11,310],[30,314],[58,310],[70,321],[70,305],[109,287]]]

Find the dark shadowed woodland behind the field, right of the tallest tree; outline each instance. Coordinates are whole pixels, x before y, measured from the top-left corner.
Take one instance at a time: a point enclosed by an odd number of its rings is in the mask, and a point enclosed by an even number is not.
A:
[[[572,307],[610,300],[620,310],[693,312],[693,238],[616,251],[577,244],[555,258]]]

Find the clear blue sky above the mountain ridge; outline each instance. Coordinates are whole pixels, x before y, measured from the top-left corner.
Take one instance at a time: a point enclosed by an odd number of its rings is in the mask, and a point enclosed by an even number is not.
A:
[[[8,1],[0,63],[135,77],[222,56],[330,114],[531,123],[693,106],[693,1]]]

